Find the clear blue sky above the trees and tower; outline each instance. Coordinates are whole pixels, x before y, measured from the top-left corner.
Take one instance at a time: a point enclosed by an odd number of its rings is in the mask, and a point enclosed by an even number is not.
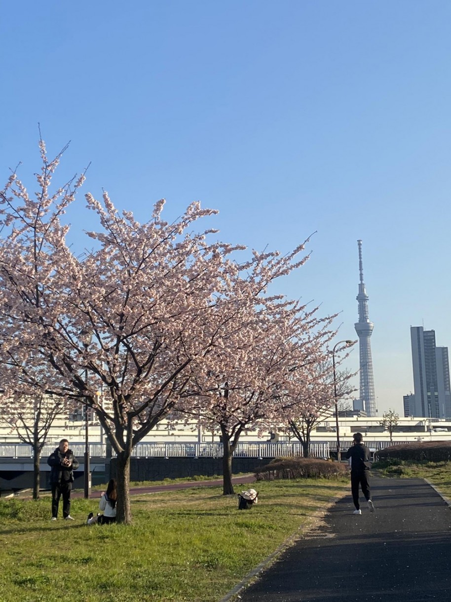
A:
[[[31,187],[39,122],[49,155],[71,141],[61,179],[91,162],[84,191],[142,221],[165,197],[259,250],[316,231],[278,291],[345,339],[361,238],[379,414],[401,414],[410,326],[451,347],[450,22],[447,0],[4,3],[2,179],[22,161]],[[80,238],[82,196],[69,217]]]

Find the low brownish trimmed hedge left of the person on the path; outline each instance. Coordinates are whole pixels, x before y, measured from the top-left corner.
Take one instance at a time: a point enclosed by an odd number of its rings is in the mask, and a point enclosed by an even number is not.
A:
[[[275,458],[265,466],[257,467],[257,481],[275,479],[339,479],[346,476],[345,465],[340,462],[313,458]]]

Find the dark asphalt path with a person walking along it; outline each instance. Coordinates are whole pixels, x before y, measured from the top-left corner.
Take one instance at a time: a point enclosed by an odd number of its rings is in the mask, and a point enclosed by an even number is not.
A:
[[[374,478],[371,484],[374,514],[365,503],[354,516],[351,495],[342,498],[316,537],[300,539],[236,599],[449,602],[449,506],[423,479]]]

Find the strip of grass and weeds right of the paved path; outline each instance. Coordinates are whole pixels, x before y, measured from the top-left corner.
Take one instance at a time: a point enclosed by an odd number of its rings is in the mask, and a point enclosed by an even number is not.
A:
[[[385,477],[428,479],[443,495],[451,498],[451,462],[410,462],[391,460],[375,462],[373,469]]]

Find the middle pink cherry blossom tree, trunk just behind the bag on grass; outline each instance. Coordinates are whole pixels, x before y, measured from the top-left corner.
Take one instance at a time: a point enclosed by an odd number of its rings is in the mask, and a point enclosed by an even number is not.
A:
[[[265,298],[269,283],[290,270],[291,259],[274,256],[263,278],[250,274],[248,281],[259,283],[256,296],[224,324],[227,337],[219,340],[227,344],[208,350],[185,393],[194,396],[186,413],[221,432],[224,495],[233,494],[232,456],[242,432],[283,419],[284,407],[295,405],[293,373],[310,379],[309,367],[324,361],[335,334],[334,316],[318,318],[317,308],[308,312],[280,297]]]

